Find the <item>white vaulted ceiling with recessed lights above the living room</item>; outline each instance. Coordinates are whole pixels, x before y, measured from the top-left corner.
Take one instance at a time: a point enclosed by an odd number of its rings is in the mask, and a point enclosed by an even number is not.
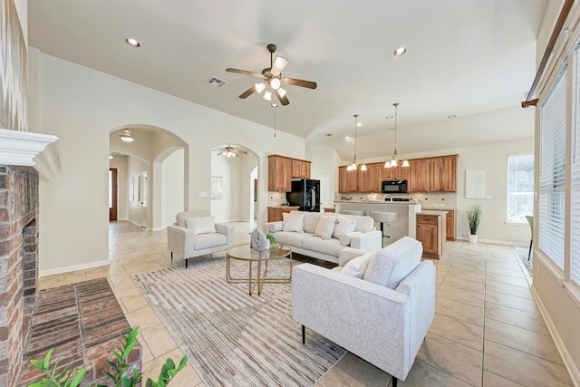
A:
[[[290,61],[284,76],[318,83],[285,87],[290,104],[277,108],[276,129],[313,146],[335,141],[344,154],[352,144],[339,139],[353,135],[353,114],[359,138],[368,137],[393,126],[393,102],[401,131],[519,106],[547,1],[29,0],[28,34],[43,53],[269,127],[268,102],[237,97],[256,79],[225,70],[261,72],[266,44],[276,44],[275,56]],[[140,48],[125,44],[130,36]],[[408,53],[393,56],[400,45]],[[212,76],[227,84],[209,85]],[[481,135],[530,137],[493,131]]]

